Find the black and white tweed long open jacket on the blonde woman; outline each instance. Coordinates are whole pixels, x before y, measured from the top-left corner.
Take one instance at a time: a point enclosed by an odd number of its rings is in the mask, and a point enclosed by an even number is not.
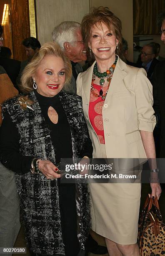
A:
[[[50,131],[35,93],[28,94],[34,102],[32,105],[34,110],[29,108],[22,110],[18,104],[18,97],[4,103],[3,113],[7,111],[18,128],[20,154],[48,159],[55,163],[55,148],[52,146]],[[59,97],[70,125],[73,158],[77,159],[85,146],[85,141],[89,138],[83,117],[82,100],[77,95],[62,91]],[[30,250],[38,255],[65,255],[57,180],[51,181],[44,175],[32,175],[31,172],[15,174],[15,176]],[[87,184],[76,184],[76,205],[78,240],[80,248],[84,250],[90,228],[90,199]]]

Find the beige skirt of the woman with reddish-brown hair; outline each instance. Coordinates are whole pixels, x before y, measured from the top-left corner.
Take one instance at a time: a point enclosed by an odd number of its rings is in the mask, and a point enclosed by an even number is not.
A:
[[[105,145],[101,144],[106,158]],[[119,244],[137,242],[140,183],[90,183],[92,230]]]

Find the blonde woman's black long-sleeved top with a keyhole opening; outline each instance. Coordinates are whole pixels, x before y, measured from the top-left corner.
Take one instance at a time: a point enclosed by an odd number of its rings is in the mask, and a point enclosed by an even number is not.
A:
[[[60,158],[72,158],[72,138],[70,125],[67,121],[67,116],[58,95],[54,97],[45,97],[37,92],[35,93],[45,122],[50,128],[52,144],[54,148],[56,148],[56,163],[60,162]],[[47,115],[47,110],[50,106],[52,106],[58,114],[57,124],[52,123]],[[12,169],[13,172],[27,173],[30,171],[33,157],[20,155],[19,140],[20,136],[17,127],[15,123],[12,122],[10,115],[6,113],[0,132],[0,161],[8,169]],[[91,152],[90,141],[89,145],[87,142],[81,157],[89,156],[91,158],[92,156],[88,153],[88,151]]]

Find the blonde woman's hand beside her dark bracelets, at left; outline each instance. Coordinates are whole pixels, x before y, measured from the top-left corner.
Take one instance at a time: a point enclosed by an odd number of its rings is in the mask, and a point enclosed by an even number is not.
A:
[[[61,174],[57,174],[58,168],[49,160],[40,160],[38,168],[47,179],[57,179]]]

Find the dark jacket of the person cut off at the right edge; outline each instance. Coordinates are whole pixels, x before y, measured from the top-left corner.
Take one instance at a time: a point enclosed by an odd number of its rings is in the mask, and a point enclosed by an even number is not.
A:
[[[165,158],[165,61],[155,67],[152,78],[153,108],[161,118],[160,157]]]

